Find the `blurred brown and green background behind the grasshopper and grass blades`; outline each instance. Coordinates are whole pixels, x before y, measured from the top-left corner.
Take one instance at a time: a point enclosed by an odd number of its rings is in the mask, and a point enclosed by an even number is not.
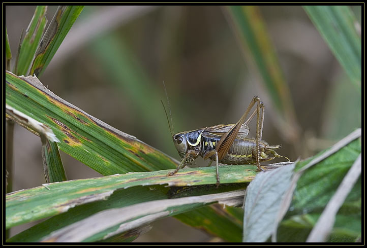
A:
[[[50,22],[57,6],[49,6]],[[359,22],[361,8],[352,6]],[[6,6],[15,55],[35,6]],[[260,6],[294,109],[292,128],[279,124],[249,51],[240,46],[219,6],[86,6],[40,81],[56,95],[109,125],[179,159],[160,100],[165,82],[174,132],[235,123],[254,95],[266,105],[263,139],[282,144],[291,161],[315,155],[361,127],[361,94],[301,6]],[[21,18],[20,18],[21,17]],[[13,55],[13,56],[14,56]],[[256,123],[249,136],[255,136]],[[69,180],[100,176],[60,152]],[[277,160],[274,162],[280,162]],[[206,166],[202,158],[197,166]],[[40,138],[15,125],[13,190],[45,183]],[[136,241],[210,241],[167,218]],[[11,236],[27,228],[12,229]],[[217,240],[212,240],[217,241]]]

